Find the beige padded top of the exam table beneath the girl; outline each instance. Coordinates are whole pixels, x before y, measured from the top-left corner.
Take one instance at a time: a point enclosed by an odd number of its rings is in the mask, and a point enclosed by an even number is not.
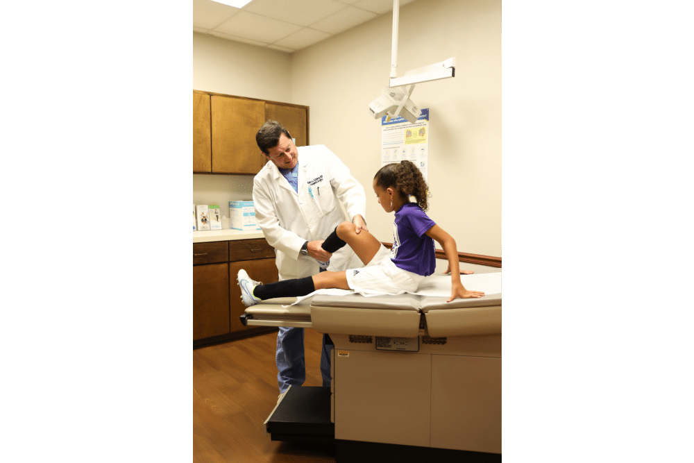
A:
[[[461,275],[481,298],[450,303],[450,276],[432,275],[414,294],[368,295],[321,289],[303,298],[275,298],[246,309],[246,323],[297,326],[319,332],[416,337],[424,314],[431,337],[495,335],[501,332],[501,272]]]

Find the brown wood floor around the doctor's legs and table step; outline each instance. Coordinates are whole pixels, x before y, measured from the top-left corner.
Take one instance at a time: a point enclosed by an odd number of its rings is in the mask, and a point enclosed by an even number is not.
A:
[[[322,336],[305,330],[305,386],[321,386]],[[193,351],[193,461],[335,462],[332,444],[271,441],[263,422],[277,403],[277,333]]]

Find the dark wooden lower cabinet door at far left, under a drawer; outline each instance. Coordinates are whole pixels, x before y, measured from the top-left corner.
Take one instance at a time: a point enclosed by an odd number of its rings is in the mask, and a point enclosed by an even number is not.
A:
[[[230,332],[229,264],[193,267],[193,340]]]

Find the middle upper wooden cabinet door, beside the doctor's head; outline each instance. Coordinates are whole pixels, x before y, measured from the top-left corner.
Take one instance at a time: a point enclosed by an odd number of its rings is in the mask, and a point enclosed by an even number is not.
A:
[[[257,174],[266,158],[255,143],[265,102],[212,95],[212,172]]]

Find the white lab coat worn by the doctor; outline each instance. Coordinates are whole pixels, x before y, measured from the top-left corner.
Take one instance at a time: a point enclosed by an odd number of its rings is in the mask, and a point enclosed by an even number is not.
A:
[[[269,161],[253,179],[255,219],[265,239],[275,248],[280,280],[319,272],[314,260],[301,256],[304,242],[325,239],[343,221],[356,214],[366,219],[364,187],[325,145],[298,150],[298,193]],[[310,190],[309,190],[310,189]],[[339,205],[344,204],[348,217]],[[345,246],[330,258],[329,270],[363,267]]]

